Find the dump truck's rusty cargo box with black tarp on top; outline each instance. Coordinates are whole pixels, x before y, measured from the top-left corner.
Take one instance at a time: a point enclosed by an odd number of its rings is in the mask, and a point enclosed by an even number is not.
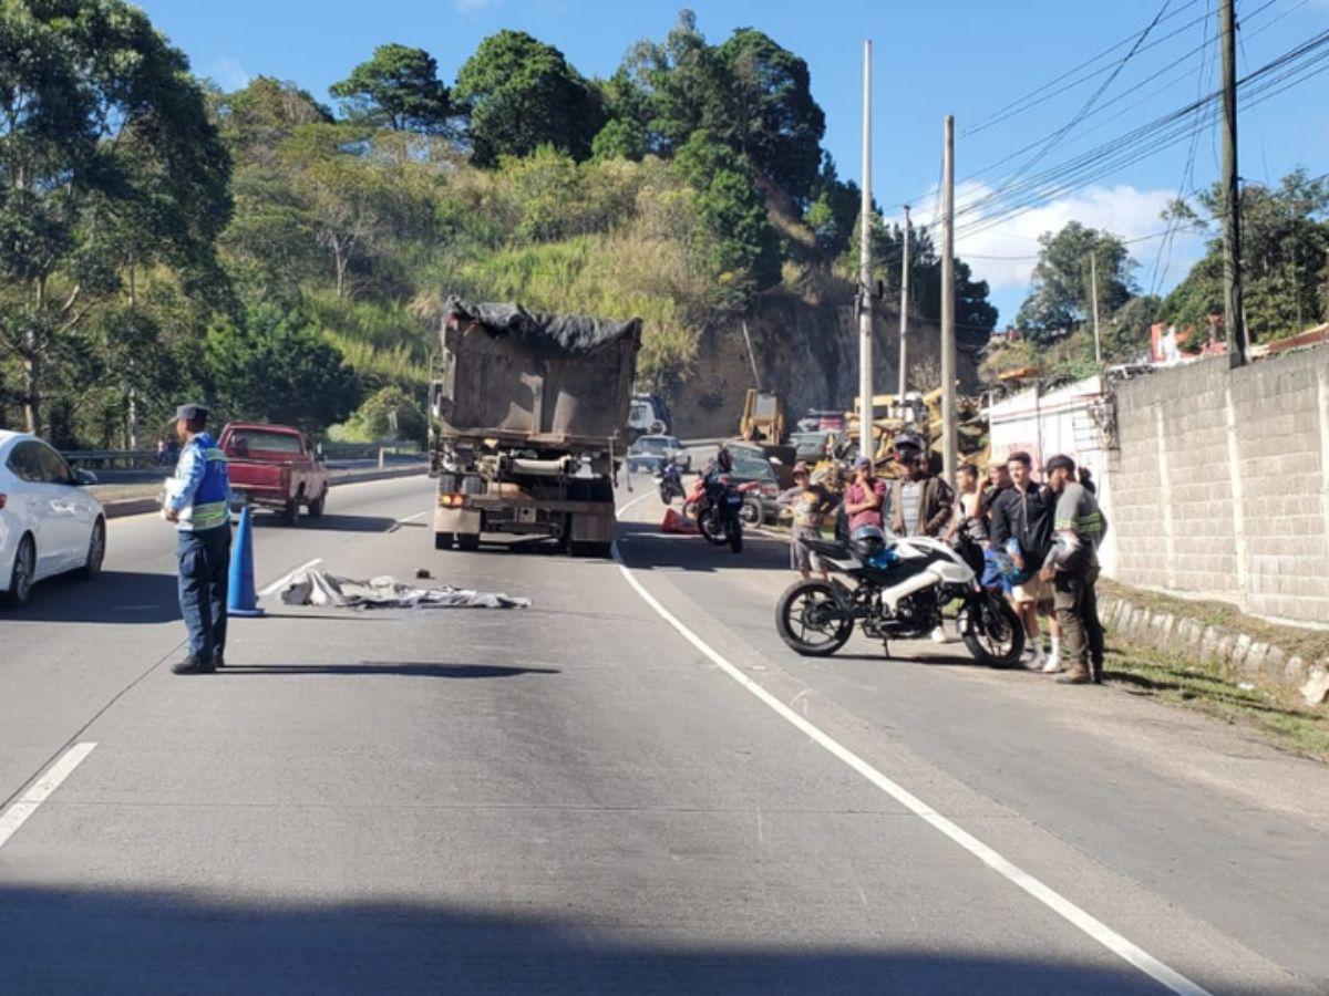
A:
[[[642,323],[541,315],[449,299],[439,420],[444,437],[540,440],[540,449],[627,448]]]

